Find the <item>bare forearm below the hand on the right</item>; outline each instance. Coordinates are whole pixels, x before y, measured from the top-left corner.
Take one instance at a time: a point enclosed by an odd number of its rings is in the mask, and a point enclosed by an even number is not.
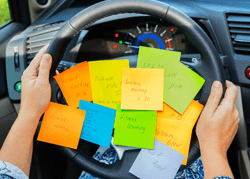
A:
[[[204,166],[205,179],[211,179],[217,176],[229,176],[233,178],[226,154],[201,147],[201,158]]]

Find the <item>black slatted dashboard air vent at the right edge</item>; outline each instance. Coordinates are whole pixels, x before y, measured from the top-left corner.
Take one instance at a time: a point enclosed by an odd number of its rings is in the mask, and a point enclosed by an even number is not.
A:
[[[227,14],[228,27],[236,53],[250,53],[250,14]]]

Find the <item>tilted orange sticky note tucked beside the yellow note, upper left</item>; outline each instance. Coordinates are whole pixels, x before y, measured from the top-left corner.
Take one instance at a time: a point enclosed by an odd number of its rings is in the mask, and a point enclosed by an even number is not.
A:
[[[80,99],[92,101],[88,62],[80,63],[54,77],[71,107],[78,107]]]

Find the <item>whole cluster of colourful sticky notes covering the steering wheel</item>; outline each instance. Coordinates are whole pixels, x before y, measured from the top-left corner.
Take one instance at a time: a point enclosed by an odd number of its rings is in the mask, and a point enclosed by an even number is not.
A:
[[[80,63],[56,79],[68,104],[50,103],[38,140],[76,149],[80,139],[142,148],[130,173],[173,178],[186,165],[203,105],[193,100],[205,80],[180,62],[180,52],[140,47],[128,60]]]

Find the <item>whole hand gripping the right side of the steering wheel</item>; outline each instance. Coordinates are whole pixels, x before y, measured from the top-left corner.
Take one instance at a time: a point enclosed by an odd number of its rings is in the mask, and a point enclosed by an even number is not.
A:
[[[237,87],[229,81],[226,85],[225,97],[220,102],[223,93],[222,85],[218,81],[213,83],[196,127],[201,150],[218,152],[224,157],[238,130],[239,123],[239,112],[235,107]]]

